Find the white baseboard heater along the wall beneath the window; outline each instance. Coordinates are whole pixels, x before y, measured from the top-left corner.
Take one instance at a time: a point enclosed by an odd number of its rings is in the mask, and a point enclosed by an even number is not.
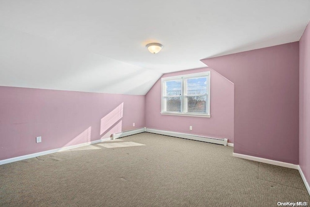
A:
[[[152,129],[152,128],[146,128],[145,131],[154,133],[154,134],[167,135],[171,137],[179,137],[183,139],[202,141],[206,143],[216,143],[216,144],[222,144],[224,146],[227,146],[226,138],[219,139],[219,138],[213,138],[213,137],[203,137],[203,136],[198,136],[198,135],[184,134],[184,133],[174,132],[174,131],[164,131],[164,130],[158,130],[158,129]]]

